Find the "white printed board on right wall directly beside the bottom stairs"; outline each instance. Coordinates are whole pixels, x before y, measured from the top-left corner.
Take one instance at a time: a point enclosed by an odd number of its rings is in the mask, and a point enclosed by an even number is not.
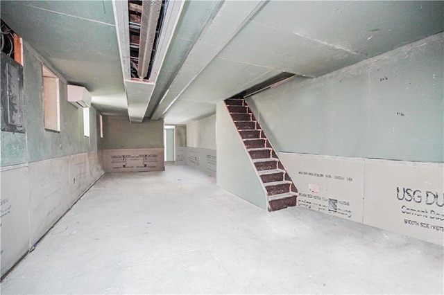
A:
[[[298,206],[362,222],[364,159],[279,153],[298,188]]]

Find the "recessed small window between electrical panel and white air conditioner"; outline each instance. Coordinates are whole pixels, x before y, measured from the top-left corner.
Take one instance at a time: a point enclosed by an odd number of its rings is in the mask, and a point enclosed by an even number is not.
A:
[[[60,132],[60,88],[53,72],[42,64],[44,128]]]

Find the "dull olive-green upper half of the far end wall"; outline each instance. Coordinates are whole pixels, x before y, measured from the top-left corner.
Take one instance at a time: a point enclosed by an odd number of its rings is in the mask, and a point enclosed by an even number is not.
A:
[[[130,123],[126,117],[103,116],[101,147],[103,150],[162,148],[164,121]]]

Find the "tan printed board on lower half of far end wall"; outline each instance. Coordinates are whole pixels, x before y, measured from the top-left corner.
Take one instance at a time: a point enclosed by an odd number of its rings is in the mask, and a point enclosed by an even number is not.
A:
[[[164,170],[164,149],[104,150],[105,172],[148,172]]]

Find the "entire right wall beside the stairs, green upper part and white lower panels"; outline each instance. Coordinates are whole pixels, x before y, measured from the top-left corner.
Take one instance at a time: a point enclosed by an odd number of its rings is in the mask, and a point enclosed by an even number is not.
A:
[[[444,244],[443,69],[441,33],[248,98],[298,205]]]

